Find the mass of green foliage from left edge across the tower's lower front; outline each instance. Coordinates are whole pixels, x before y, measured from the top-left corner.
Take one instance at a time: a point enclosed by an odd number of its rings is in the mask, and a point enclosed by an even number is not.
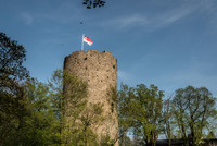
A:
[[[87,102],[87,83],[58,70],[48,84],[35,78],[18,86],[21,97],[1,93],[1,145],[103,145],[94,129],[103,104]],[[18,101],[18,102],[17,102]],[[4,136],[5,135],[5,136]]]

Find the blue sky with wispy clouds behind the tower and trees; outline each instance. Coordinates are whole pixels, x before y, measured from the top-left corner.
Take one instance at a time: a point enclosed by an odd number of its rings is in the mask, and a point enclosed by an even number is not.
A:
[[[107,50],[118,60],[118,83],[155,84],[170,95],[205,86],[217,96],[216,0],[0,0],[0,31],[27,50],[30,75],[47,81],[64,57]],[[80,24],[82,22],[84,24]]]

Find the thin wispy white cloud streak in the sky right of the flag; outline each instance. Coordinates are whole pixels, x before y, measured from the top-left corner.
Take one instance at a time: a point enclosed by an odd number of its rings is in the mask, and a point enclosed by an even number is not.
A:
[[[197,9],[200,9],[201,5],[201,3],[194,5],[186,4],[178,8],[168,9],[167,11],[157,11],[155,13],[140,12],[124,16],[120,15],[103,22],[102,26],[111,26],[120,29],[142,26],[145,31],[155,31],[190,16]]]

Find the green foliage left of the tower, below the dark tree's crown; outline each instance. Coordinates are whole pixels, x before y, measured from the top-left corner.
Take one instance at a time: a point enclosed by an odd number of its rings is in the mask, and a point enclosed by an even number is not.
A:
[[[1,96],[1,101],[4,100],[2,104],[5,104],[1,107],[7,107],[1,111],[4,113],[1,114],[4,115],[1,119],[1,133],[9,134],[2,137],[2,145],[60,144],[60,120],[53,112],[49,86],[30,78],[21,87],[24,94],[18,102],[11,96]]]

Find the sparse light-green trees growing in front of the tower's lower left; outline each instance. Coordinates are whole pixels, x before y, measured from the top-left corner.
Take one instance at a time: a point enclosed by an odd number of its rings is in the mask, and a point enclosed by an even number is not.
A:
[[[88,85],[80,78],[66,72],[55,71],[53,97],[61,111],[62,145],[103,145],[110,143],[106,135],[97,135],[94,130],[102,124],[103,104],[87,101]]]

